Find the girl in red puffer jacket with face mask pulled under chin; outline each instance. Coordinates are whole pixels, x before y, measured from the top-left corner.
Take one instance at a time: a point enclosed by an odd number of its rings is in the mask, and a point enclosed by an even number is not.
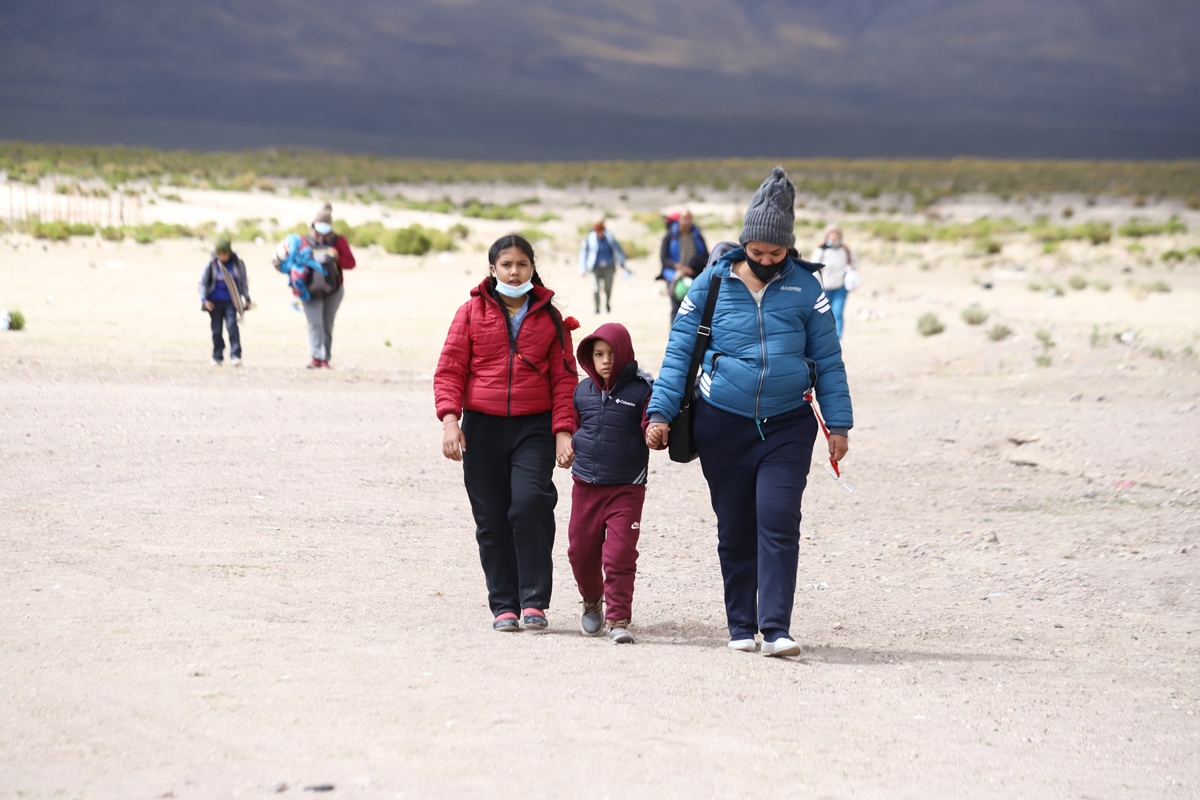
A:
[[[502,236],[490,275],[455,314],[433,395],[442,453],[463,463],[497,631],[546,630],[554,546],[553,471],[575,452],[571,331],[538,276],[533,246]],[[468,447],[468,444],[470,445]]]

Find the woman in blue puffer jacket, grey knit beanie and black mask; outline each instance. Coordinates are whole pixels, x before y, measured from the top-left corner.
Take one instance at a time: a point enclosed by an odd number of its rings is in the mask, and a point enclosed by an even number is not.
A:
[[[695,411],[696,449],[716,512],[730,648],[799,655],[791,636],[800,543],[800,499],[817,421],[829,425],[829,457],[848,450],[853,413],[829,300],[797,258],[796,187],[776,167],[746,210],[742,247],[697,277],[679,308],[654,384],[646,441],[666,446],[679,413],[700,318],[713,277],[722,278]]]

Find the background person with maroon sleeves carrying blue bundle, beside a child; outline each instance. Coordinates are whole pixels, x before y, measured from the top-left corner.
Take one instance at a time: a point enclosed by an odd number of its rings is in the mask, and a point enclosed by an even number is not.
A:
[[[346,236],[334,233],[334,209],[326,203],[312,219],[305,236],[290,234],[280,242],[271,260],[289,276],[292,291],[304,303],[308,321],[310,369],[329,368],[334,350],[334,318],[346,295],[343,272],[355,266]]]

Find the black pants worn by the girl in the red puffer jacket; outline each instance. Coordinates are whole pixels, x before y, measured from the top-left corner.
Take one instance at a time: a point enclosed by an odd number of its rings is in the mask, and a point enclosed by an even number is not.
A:
[[[550,411],[462,414],[462,471],[493,615],[550,608],[558,503],[550,428]]]

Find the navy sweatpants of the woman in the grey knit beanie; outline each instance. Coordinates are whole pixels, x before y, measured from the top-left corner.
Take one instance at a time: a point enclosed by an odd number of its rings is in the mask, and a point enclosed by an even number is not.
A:
[[[716,513],[730,638],[790,636],[800,499],[816,437],[811,405],[760,426],[698,401],[696,449]]]

